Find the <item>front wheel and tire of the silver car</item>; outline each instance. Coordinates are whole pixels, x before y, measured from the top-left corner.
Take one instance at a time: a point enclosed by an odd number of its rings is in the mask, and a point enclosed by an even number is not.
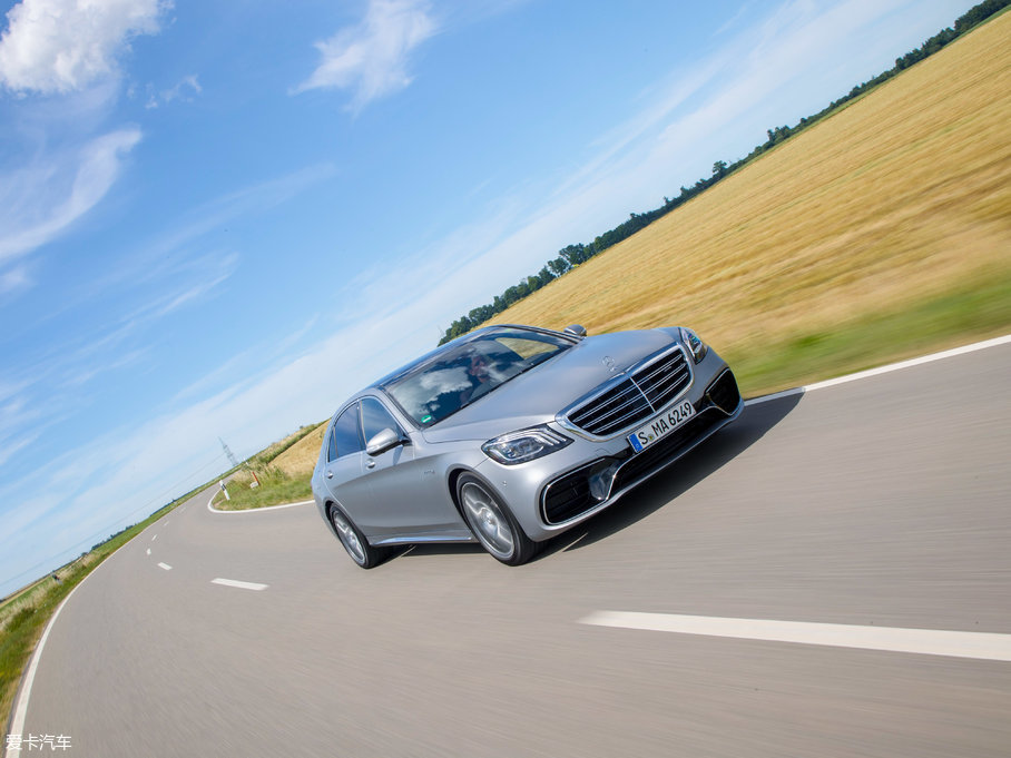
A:
[[[472,474],[457,480],[457,502],[471,532],[491,555],[506,565],[526,563],[540,550],[492,490]]]

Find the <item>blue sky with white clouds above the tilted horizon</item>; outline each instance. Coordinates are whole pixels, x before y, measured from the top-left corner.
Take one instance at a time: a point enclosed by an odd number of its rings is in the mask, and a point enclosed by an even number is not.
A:
[[[970,6],[0,3],[0,595]]]

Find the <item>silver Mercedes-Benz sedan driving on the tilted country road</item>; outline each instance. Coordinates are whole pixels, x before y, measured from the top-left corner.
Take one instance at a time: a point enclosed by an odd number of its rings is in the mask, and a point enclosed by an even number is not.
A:
[[[688,328],[488,326],[345,402],[313,494],[362,568],[395,545],[474,541],[518,565],[743,405],[730,368]]]

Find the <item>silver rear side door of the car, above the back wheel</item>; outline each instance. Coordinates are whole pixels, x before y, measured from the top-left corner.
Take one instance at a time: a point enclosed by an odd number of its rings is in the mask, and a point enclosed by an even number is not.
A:
[[[330,430],[323,482],[360,528],[361,519],[369,514],[369,501],[372,499],[371,485],[365,476],[364,450],[361,410],[355,401],[341,412]]]

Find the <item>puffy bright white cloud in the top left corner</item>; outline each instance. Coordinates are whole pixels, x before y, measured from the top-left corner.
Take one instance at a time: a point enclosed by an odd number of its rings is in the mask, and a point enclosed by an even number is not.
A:
[[[22,0],[0,38],[0,83],[17,92],[70,92],[115,72],[138,35],[158,32],[165,0]]]

